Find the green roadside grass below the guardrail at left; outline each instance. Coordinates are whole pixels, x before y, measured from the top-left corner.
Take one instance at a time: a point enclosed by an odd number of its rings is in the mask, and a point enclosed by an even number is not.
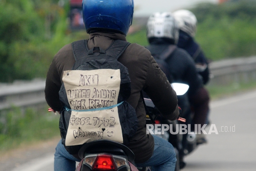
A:
[[[6,121],[0,125],[0,151],[5,151],[22,143],[51,139],[60,134],[59,116],[53,113],[27,108],[24,112],[13,107],[5,114]],[[3,111],[0,111],[3,114]]]

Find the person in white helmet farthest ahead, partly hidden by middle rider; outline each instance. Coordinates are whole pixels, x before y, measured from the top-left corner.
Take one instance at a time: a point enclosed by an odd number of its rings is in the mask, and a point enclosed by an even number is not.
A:
[[[179,41],[177,46],[186,50],[196,63],[196,69],[203,78],[203,83],[206,85],[209,82],[209,62],[204,56],[204,53],[198,43],[195,42],[197,19],[196,16],[189,10],[177,10],[173,13],[174,18],[178,22]],[[200,93],[205,99],[205,104],[209,103],[209,93],[205,88],[202,88]],[[208,111],[209,114],[209,111]],[[204,118],[195,117],[195,123],[203,123]],[[205,123],[208,123],[208,119]],[[202,134],[203,136],[203,134]],[[204,137],[198,138],[198,143],[206,142]]]

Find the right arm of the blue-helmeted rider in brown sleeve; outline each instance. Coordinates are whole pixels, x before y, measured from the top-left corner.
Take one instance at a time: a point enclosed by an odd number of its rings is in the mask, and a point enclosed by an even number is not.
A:
[[[152,56],[143,90],[151,98],[163,117],[175,120],[179,116],[176,93]]]

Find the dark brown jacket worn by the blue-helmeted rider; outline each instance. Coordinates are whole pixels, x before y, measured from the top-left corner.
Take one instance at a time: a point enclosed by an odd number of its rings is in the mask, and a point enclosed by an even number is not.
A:
[[[119,33],[91,33],[88,48],[101,47],[107,49],[114,40],[124,40]],[[165,74],[160,70],[150,52],[138,44],[130,44],[118,58],[128,68],[131,79],[131,95],[127,102],[134,107],[138,117],[138,130],[128,147],[135,154],[135,162],[147,161],[154,151],[154,139],[146,134],[146,112],[140,96],[143,89],[152,99],[156,107],[167,119],[175,120],[179,115],[177,96],[171,88]],[[71,44],[64,46],[55,55],[47,73],[45,98],[52,109],[62,108],[59,100],[59,90],[62,84],[64,70],[70,70],[75,63]]]

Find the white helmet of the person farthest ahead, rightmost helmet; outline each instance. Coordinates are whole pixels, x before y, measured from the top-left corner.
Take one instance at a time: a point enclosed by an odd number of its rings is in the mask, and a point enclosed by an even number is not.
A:
[[[186,32],[191,37],[196,35],[196,16],[189,10],[177,10],[173,13],[178,22],[180,30]]]

